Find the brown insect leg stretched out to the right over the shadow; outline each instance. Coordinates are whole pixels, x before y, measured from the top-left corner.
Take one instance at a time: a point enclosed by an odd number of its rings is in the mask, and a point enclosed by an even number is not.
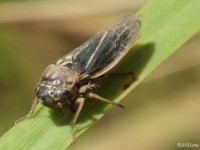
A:
[[[110,101],[110,100],[108,100],[108,99],[105,99],[105,98],[103,98],[103,97],[101,97],[101,96],[95,94],[95,93],[90,92],[90,93],[88,93],[86,96],[87,96],[88,98],[94,98],[94,99],[100,100],[100,101],[102,101],[102,102],[106,102],[106,103],[111,104],[111,105],[113,105],[113,106],[118,106],[118,107],[124,109],[124,106],[123,106],[122,104],[112,102],[112,101]]]

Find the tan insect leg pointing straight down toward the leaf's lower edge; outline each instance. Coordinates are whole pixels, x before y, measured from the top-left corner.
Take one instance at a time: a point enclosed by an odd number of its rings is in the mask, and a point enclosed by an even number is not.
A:
[[[80,112],[81,112],[81,110],[83,108],[84,101],[85,101],[85,98],[78,98],[76,100],[76,103],[75,103],[78,106],[78,108],[77,108],[77,110],[75,112],[75,115],[74,115],[74,118],[73,118],[73,120],[71,122],[72,143],[74,143],[74,141],[75,141],[74,126],[75,126],[76,121],[77,121],[77,119],[79,117],[79,114],[80,114]]]

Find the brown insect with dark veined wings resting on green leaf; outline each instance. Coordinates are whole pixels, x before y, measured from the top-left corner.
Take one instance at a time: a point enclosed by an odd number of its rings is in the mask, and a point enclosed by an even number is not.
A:
[[[36,98],[29,113],[17,122],[30,118],[39,102],[52,109],[69,109],[75,113],[73,129],[84,101],[96,99],[124,108],[92,92],[95,79],[107,74],[127,54],[140,31],[139,19],[122,17],[112,26],[47,66],[35,88]],[[74,140],[74,138],[73,138]]]

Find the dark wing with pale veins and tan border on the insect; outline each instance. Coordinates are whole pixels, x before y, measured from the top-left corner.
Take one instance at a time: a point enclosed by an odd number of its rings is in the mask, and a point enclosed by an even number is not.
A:
[[[140,30],[140,21],[123,17],[97,33],[72,54],[75,73],[80,79],[99,77],[112,69],[129,51]]]

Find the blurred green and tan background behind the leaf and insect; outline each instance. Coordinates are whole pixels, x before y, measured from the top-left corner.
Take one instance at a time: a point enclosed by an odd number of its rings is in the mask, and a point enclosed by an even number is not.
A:
[[[145,3],[1,0],[0,135],[28,112],[48,64]],[[181,149],[178,143],[200,148],[199,39],[194,36],[131,92],[122,101],[124,111],[113,109],[70,149]]]

